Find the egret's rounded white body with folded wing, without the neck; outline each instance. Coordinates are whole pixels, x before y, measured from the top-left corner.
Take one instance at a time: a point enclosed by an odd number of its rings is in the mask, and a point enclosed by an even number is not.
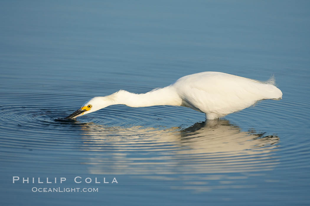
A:
[[[219,116],[245,109],[262,99],[282,96],[272,84],[221,72],[188,75],[178,79],[173,86],[184,106]]]

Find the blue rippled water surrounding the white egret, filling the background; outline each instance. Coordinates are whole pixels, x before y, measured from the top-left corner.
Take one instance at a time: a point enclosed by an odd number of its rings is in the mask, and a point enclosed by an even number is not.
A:
[[[309,9],[308,1],[1,1],[0,204],[308,205]],[[91,97],[148,92],[202,71],[274,74],[283,99],[218,121],[184,107],[125,105],[60,121]]]

